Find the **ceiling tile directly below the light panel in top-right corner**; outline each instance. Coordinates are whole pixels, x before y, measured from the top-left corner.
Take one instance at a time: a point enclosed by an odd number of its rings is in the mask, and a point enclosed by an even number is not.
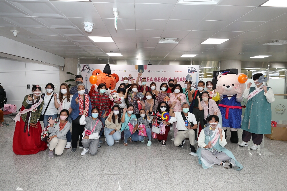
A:
[[[263,14],[264,13],[264,14]],[[284,7],[256,7],[246,15],[238,19],[238,21],[270,21],[280,15],[286,13]]]

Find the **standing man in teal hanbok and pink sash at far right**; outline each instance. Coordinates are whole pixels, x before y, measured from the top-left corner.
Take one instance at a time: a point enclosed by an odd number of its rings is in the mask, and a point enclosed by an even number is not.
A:
[[[243,98],[248,99],[243,121],[241,123],[242,143],[241,147],[248,146],[248,141],[252,137],[252,150],[256,150],[261,144],[264,134],[271,134],[271,103],[275,101],[274,93],[270,87],[263,85],[259,78],[263,76],[261,73],[253,75],[255,87],[247,88],[243,93]]]

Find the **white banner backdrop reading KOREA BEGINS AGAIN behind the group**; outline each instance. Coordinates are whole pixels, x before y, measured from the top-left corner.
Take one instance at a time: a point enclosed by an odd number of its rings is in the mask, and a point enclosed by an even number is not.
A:
[[[103,71],[105,64],[81,64],[81,67],[84,83],[90,90],[92,86],[89,81],[90,76],[96,69]],[[192,76],[193,88],[197,87],[197,82],[199,81],[199,65],[110,65],[110,69],[112,74],[115,73],[119,76],[115,90],[123,83],[123,76],[129,76],[129,74],[131,74],[134,82],[136,82],[139,72],[142,73],[141,78],[146,77],[147,86],[150,86],[151,82],[155,82],[158,91],[160,91],[159,88],[162,83],[168,83],[170,79],[174,78],[177,78],[177,83],[180,84],[181,87],[184,87],[185,76],[187,74]],[[141,85],[140,80],[139,85]],[[131,81],[131,79],[129,79],[129,81]]]

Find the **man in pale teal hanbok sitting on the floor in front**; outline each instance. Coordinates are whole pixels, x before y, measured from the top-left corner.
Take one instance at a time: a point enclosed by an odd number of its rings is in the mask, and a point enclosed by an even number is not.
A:
[[[210,115],[208,121],[210,125],[201,130],[198,136],[198,163],[202,164],[204,169],[217,164],[224,168],[232,168],[235,165],[239,167],[237,170],[241,170],[243,166],[236,161],[231,151],[224,148],[227,142],[224,131],[218,125],[218,116]]]

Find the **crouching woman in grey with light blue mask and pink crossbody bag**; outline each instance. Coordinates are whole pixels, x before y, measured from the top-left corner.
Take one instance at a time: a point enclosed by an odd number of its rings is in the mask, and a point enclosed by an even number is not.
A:
[[[98,119],[100,110],[97,107],[92,108],[92,116],[86,117],[88,111],[84,110],[83,115],[80,118],[80,125],[85,125],[84,132],[82,133],[83,139],[82,144],[84,151],[81,155],[90,153],[91,155],[96,155],[98,152],[99,145],[99,133],[102,129],[102,122]]]

